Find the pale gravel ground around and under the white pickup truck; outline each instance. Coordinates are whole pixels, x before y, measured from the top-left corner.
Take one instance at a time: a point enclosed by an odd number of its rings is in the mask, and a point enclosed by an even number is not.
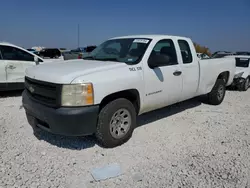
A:
[[[220,106],[190,100],[141,116],[124,145],[98,146],[28,125],[20,96],[0,98],[0,187],[250,187],[250,90]],[[123,175],[95,182],[93,168]]]

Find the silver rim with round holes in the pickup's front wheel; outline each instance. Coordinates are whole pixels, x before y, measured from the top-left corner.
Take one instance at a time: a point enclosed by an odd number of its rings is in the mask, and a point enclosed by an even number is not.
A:
[[[117,110],[110,121],[110,134],[119,139],[127,134],[131,126],[131,114],[126,109]]]

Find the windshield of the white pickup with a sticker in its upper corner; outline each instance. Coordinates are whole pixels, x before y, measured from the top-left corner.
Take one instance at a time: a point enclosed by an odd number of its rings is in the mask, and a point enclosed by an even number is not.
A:
[[[108,40],[83,59],[135,64],[141,60],[151,39],[120,38]]]

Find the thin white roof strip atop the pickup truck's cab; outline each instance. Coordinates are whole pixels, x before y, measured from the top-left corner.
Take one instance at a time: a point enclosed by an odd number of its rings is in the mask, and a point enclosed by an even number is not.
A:
[[[127,36],[113,37],[111,39],[122,39],[122,38],[149,38],[149,39],[172,38],[172,39],[190,39],[188,37],[181,37],[181,36],[174,36],[174,35],[162,35],[162,34],[155,34],[155,35],[127,35]]]

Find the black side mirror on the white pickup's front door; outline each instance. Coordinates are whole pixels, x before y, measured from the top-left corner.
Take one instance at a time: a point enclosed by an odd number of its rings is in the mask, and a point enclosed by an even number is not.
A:
[[[169,64],[170,58],[167,55],[153,55],[148,60],[148,65],[151,69]]]

